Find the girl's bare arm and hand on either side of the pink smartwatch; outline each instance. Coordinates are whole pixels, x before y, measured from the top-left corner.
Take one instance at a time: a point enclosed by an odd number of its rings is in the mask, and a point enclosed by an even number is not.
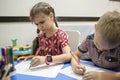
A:
[[[31,66],[37,66],[40,64],[48,63],[46,61],[47,56],[35,56],[32,58],[32,61],[30,63]],[[71,60],[71,54],[70,54],[70,47],[65,46],[63,48],[63,54],[56,55],[56,56],[51,56],[52,57],[52,62],[51,63],[65,63],[65,62],[70,62]]]

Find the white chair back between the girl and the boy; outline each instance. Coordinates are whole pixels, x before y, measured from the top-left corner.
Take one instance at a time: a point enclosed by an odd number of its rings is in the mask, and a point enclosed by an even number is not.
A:
[[[77,30],[66,30],[65,32],[68,35],[71,51],[75,52],[80,44],[81,33]]]

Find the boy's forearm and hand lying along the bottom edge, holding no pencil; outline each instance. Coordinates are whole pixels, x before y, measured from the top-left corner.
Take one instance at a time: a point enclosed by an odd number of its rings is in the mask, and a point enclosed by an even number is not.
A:
[[[86,72],[83,76],[83,80],[120,80],[120,72]]]

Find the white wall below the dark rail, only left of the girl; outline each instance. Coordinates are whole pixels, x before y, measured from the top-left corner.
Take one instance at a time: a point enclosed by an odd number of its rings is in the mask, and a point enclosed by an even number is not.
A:
[[[12,45],[12,39],[18,39],[18,44],[31,44],[36,36],[35,28],[31,23],[1,23],[0,47]]]

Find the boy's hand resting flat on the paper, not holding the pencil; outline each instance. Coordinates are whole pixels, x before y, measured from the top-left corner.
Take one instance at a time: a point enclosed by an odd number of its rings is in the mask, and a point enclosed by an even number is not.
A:
[[[96,71],[86,72],[82,80],[101,80],[100,72],[96,72]]]

